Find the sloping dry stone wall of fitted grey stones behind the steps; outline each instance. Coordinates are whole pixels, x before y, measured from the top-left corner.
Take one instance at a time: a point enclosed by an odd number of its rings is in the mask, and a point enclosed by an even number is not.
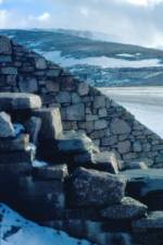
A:
[[[147,159],[163,166],[163,139],[156,134],[97,88],[4,36],[0,91],[38,94],[45,107],[60,107],[65,131],[86,132],[101,150],[115,150],[124,162]]]

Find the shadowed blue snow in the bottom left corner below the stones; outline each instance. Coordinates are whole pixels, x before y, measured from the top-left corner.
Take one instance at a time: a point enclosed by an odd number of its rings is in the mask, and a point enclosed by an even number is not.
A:
[[[39,226],[0,204],[0,245],[90,245],[64,232]]]

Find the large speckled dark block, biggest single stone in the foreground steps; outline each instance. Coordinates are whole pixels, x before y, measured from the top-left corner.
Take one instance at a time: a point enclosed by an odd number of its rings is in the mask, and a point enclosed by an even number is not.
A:
[[[72,205],[101,207],[117,204],[124,197],[125,185],[122,176],[79,168],[72,179]]]

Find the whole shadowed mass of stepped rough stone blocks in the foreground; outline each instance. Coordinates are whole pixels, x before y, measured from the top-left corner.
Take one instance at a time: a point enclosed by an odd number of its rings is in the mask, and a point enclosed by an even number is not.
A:
[[[0,200],[27,218],[98,245],[163,244],[162,170],[122,171],[39,96],[0,93]]]

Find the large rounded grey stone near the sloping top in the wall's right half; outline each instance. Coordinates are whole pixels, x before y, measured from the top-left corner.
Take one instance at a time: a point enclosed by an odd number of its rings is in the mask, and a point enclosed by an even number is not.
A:
[[[122,119],[114,119],[112,122],[111,122],[111,132],[113,134],[129,134],[131,128],[130,126],[128,125],[127,122],[125,122],[124,120]]]

